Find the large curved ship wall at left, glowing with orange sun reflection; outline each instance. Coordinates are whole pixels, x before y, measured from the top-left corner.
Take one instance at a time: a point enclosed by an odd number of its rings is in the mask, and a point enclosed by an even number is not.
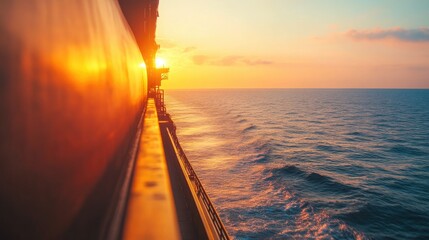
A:
[[[58,238],[117,177],[146,100],[128,29],[114,0],[0,3],[0,237]]]

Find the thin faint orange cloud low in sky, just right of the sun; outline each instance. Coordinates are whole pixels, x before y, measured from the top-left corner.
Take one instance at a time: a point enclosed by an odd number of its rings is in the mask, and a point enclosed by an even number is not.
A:
[[[194,55],[192,61],[196,65],[214,65],[214,66],[258,66],[258,65],[271,65],[272,61],[254,59],[244,56],[225,56],[225,57],[213,57],[208,55]]]

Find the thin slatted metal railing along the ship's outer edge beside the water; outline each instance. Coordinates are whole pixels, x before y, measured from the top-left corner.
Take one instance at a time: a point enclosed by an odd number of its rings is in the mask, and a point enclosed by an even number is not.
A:
[[[217,214],[217,211],[216,211],[213,203],[210,201],[210,198],[209,198],[207,192],[204,190],[204,187],[201,184],[200,179],[198,178],[197,174],[195,173],[194,169],[192,168],[191,163],[189,162],[188,158],[186,157],[186,154],[183,151],[182,146],[179,143],[179,139],[177,138],[176,131],[175,131],[176,127],[175,127],[173,121],[171,120],[169,114],[167,114],[167,115],[169,118],[169,122],[171,123],[171,126],[172,126],[172,127],[168,127],[167,130],[168,130],[169,135],[173,139],[173,143],[174,143],[174,145],[178,151],[179,158],[184,163],[185,169],[187,171],[189,178],[195,184],[195,190],[197,192],[197,195],[202,200],[201,202],[203,203],[203,206],[206,208],[206,211],[210,216],[210,219],[213,223],[213,226],[216,230],[216,233],[217,233],[219,239],[227,240],[227,239],[229,239],[228,232],[226,231],[225,226],[222,223],[222,220],[220,219],[219,215]]]

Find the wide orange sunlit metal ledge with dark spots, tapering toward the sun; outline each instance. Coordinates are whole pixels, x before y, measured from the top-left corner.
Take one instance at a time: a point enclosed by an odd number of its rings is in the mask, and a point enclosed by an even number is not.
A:
[[[124,239],[180,239],[158,115],[148,100],[124,224]]]

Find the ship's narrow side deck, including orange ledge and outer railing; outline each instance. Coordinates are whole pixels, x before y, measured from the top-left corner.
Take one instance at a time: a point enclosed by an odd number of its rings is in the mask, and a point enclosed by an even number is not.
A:
[[[229,239],[168,114],[149,99],[108,239]]]

